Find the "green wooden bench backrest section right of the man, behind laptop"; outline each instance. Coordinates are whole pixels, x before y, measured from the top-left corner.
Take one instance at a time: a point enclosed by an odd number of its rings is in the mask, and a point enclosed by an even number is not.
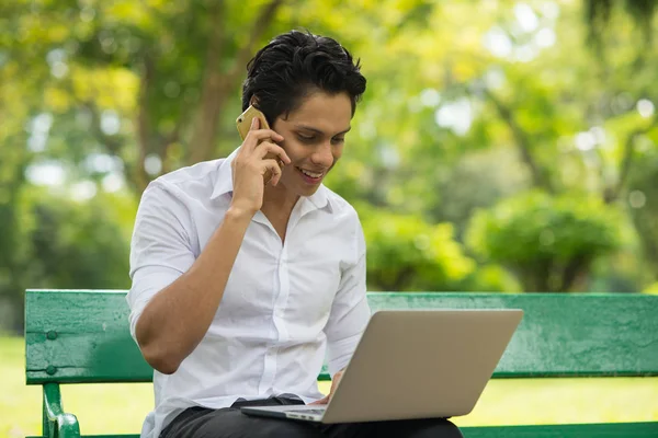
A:
[[[495,377],[658,376],[658,296],[376,293],[378,309],[523,309]]]

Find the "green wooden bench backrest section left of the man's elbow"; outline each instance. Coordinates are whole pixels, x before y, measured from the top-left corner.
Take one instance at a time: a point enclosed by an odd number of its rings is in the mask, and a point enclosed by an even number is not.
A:
[[[27,291],[27,383],[150,382],[128,328],[125,291]]]

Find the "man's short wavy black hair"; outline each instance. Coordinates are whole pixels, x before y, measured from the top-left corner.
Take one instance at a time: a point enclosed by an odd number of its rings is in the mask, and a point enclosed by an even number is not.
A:
[[[256,106],[263,112],[270,126],[302,105],[302,100],[315,91],[330,94],[347,92],[356,102],[365,91],[365,78],[358,60],[336,39],[299,31],[281,34],[270,42],[247,65],[242,84],[242,111],[256,96]]]

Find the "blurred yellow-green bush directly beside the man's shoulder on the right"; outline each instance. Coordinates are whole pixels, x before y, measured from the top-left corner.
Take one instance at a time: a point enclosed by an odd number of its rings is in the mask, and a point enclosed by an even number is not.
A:
[[[363,215],[362,215],[363,216]],[[475,269],[451,223],[374,210],[362,218],[371,290],[458,290]]]

